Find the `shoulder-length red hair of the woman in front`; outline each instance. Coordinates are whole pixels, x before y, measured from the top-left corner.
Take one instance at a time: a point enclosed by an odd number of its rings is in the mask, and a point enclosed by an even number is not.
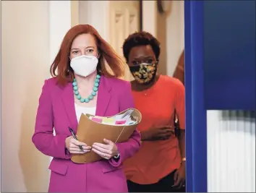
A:
[[[98,60],[98,73],[103,74],[106,77],[121,77],[124,74],[124,62],[121,57],[114,51],[114,49],[101,38],[98,31],[91,25],[76,25],[72,27],[61,43],[61,48],[51,64],[51,76],[56,77],[60,85],[65,85],[67,82],[72,82],[74,79],[74,71],[70,67],[69,53],[74,38],[78,35],[90,33],[94,36],[96,45],[98,47],[101,56]],[[108,72],[107,64],[110,67],[111,72]],[[56,73],[57,70],[57,73]]]

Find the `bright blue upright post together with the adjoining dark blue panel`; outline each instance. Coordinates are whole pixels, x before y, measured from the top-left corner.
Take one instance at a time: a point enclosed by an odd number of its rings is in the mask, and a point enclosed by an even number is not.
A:
[[[255,111],[255,1],[184,1],[187,192],[207,192],[206,109]]]

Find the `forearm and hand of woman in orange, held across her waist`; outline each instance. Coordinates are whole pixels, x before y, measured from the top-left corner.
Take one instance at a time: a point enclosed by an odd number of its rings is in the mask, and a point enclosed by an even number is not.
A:
[[[174,133],[171,126],[158,126],[140,132],[142,141],[168,140]]]

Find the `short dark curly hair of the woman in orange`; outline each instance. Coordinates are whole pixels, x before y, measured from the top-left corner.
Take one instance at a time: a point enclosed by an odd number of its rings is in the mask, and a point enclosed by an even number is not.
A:
[[[123,53],[124,57],[129,61],[129,52],[132,48],[137,46],[148,46],[150,45],[155,53],[155,58],[158,60],[160,55],[160,42],[150,33],[145,31],[140,31],[132,33],[124,40],[123,44]]]

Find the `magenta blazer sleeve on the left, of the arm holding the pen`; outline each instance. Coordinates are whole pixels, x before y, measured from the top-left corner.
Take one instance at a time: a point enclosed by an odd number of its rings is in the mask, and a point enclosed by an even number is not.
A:
[[[45,155],[69,159],[71,156],[67,153],[65,145],[65,140],[68,136],[64,134],[54,136],[54,113],[50,93],[51,85],[46,80],[39,98],[32,141],[35,147]]]

